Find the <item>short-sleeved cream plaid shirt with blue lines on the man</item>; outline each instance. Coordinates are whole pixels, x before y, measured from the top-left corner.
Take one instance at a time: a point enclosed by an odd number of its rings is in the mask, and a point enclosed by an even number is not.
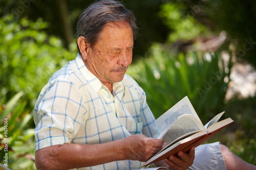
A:
[[[80,55],[55,72],[41,90],[34,122],[35,150],[63,143],[98,144],[133,134],[158,135],[142,88],[125,75],[121,82],[113,83],[112,95]],[[135,169],[143,165],[124,160],[79,169]]]

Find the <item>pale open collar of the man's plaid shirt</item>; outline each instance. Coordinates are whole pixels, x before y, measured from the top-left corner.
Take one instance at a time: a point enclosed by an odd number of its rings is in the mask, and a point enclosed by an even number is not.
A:
[[[91,71],[89,71],[79,54],[76,56],[75,63],[77,69],[80,71],[80,74],[84,77],[84,79],[87,80],[87,82],[96,92],[98,92],[102,86],[104,87],[101,81],[96,76],[94,76]],[[125,90],[125,86],[123,85],[122,81],[113,83],[113,90],[119,91],[121,89]]]

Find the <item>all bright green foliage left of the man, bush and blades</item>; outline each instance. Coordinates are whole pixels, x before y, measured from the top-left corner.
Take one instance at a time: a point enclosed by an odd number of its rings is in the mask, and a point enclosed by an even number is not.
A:
[[[47,27],[42,19],[0,18],[0,155],[7,153],[4,142],[8,138],[11,169],[35,169],[35,101],[52,74],[76,57],[76,45],[66,50],[59,38],[44,32]],[[5,164],[4,157],[0,162]]]

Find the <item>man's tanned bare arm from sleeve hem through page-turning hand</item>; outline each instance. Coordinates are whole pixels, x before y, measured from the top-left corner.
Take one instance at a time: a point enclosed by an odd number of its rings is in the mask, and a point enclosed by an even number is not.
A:
[[[163,140],[144,135],[131,135],[124,139],[102,144],[52,145],[35,152],[37,169],[72,169],[88,167],[118,160],[146,161],[159,152]]]

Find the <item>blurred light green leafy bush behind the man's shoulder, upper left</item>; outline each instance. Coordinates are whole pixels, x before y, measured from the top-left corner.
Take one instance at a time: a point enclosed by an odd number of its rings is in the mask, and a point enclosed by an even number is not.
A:
[[[31,22],[23,18],[17,22],[11,15],[0,19],[0,95],[8,96],[7,100],[24,91],[24,100],[34,106],[53,72],[75,58],[75,54],[63,49],[60,39],[43,31],[46,27],[41,19]]]

